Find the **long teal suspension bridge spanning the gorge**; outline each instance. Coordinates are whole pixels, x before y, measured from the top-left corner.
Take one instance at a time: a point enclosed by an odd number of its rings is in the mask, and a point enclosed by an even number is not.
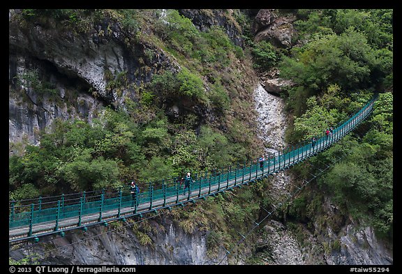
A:
[[[268,155],[262,165],[252,160],[236,168],[228,167],[219,172],[195,176],[186,191],[177,178],[170,178],[149,183],[147,190],[140,192],[135,199],[131,197],[127,187],[9,201],[9,243],[38,242],[40,237],[51,234],[64,236],[66,231],[73,229],[87,231],[91,226],[107,226],[110,222],[133,216],[142,218],[145,213],[184,206],[186,203],[253,183],[327,149],[364,121],[373,111],[377,99],[378,94],[359,112],[334,128],[332,135],[322,133],[318,136],[314,145],[306,141],[287,151],[278,151]]]

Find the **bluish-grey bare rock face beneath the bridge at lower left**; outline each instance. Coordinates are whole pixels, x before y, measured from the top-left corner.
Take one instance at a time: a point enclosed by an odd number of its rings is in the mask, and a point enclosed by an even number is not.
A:
[[[75,231],[64,238],[49,241],[52,253],[46,253],[43,245],[27,246],[24,252],[10,252],[10,257],[20,259],[34,252],[41,255],[40,264],[66,265],[202,265],[216,264],[207,255],[207,232],[186,234],[168,218],[149,221],[152,233],[150,242],[140,244],[130,224],[114,229],[94,227],[86,232]],[[214,254],[222,258],[224,254]]]

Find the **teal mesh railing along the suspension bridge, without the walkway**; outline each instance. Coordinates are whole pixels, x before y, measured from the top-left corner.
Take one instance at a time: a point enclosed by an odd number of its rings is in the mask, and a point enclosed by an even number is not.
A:
[[[198,197],[201,197],[202,195],[206,196],[219,192],[220,190],[228,189],[230,184],[232,187],[233,181],[234,186],[236,186],[236,184],[241,185],[245,182],[254,181],[255,179],[267,176],[268,174],[273,174],[274,172],[278,172],[279,170],[295,165],[301,160],[305,160],[306,158],[309,158],[312,155],[327,149],[328,146],[334,142],[337,142],[338,139],[341,139],[350,130],[355,128],[357,124],[359,124],[366,118],[366,116],[368,116],[368,114],[371,113],[374,102],[377,100],[377,98],[378,94],[376,94],[372,100],[364,105],[359,112],[350,116],[350,118],[341,123],[341,125],[338,124],[338,127],[334,129],[331,137],[327,137],[322,133],[320,137],[318,137],[315,147],[312,147],[310,141],[301,142],[296,146],[292,146],[292,149],[288,148],[287,153],[285,153],[284,149],[282,152],[278,151],[277,153],[268,155],[264,165],[262,166],[262,169],[260,169],[258,161],[251,160],[249,162],[244,162],[244,165],[238,164],[237,167],[233,169],[232,167],[219,169],[220,172],[218,172],[218,174],[206,172],[204,176],[195,177],[195,182],[192,184],[191,191],[198,191]],[[172,199],[173,197],[177,197],[176,202],[173,204],[179,204],[179,194],[181,194],[179,192],[182,191],[180,189],[179,181],[162,180],[160,188],[154,187],[155,185],[153,183],[149,183],[148,190],[140,192],[140,194],[137,196],[134,209],[135,214],[140,212],[137,212],[137,209],[141,209],[142,211],[147,211],[149,209],[149,211],[151,211],[153,208],[153,203],[158,201],[163,200],[163,206],[165,206],[166,200]],[[201,193],[201,190],[204,188],[209,188],[209,191],[206,194]],[[211,188],[214,188],[214,190],[211,190]],[[99,214],[98,220],[101,221],[102,213],[107,210],[118,210],[119,213],[117,213],[117,216],[119,216],[121,208],[130,207],[131,203],[133,202],[131,200],[131,195],[128,194],[128,192],[127,195],[125,193],[126,190],[121,190],[121,188],[112,192],[105,192],[105,190],[103,190],[99,195],[89,197],[81,195],[80,197],[76,197],[74,199],[59,199],[57,202],[50,201],[49,204],[57,203],[57,206],[49,208],[43,207],[43,204],[47,204],[47,202],[30,204],[29,206],[15,206],[15,204],[12,204],[9,210],[9,228],[11,229],[15,227],[28,226],[29,231],[27,231],[27,235],[31,236],[33,234],[33,225],[42,222],[55,221],[56,227],[54,230],[57,231],[59,220],[77,217],[78,215],[80,218],[78,224],[81,223],[82,216],[94,213]],[[61,195],[61,197],[65,196]],[[188,194],[187,200],[189,201],[191,199],[193,198],[191,198],[190,194]],[[68,203],[68,201],[77,202]],[[16,211],[20,212],[17,213]]]

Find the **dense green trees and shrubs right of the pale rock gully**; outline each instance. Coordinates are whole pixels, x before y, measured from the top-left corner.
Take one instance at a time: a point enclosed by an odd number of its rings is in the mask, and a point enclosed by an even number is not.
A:
[[[308,42],[294,47],[279,65],[281,75],[295,82],[287,98],[295,115],[286,135],[291,143],[320,135],[343,121],[373,91],[392,90],[392,10],[299,10],[297,17],[299,38]],[[299,175],[312,173],[321,162],[332,162],[348,151],[318,178],[316,189],[303,192],[292,203],[291,218],[313,222],[322,207],[312,204],[313,197],[323,200],[325,195],[342,216],[368,222],[378,236],[392,239],[392,97],[381,93],[373,115],[355,134],[311,159],[311,167],[293,169]],[[325,218],[334,231],[344,221]]]

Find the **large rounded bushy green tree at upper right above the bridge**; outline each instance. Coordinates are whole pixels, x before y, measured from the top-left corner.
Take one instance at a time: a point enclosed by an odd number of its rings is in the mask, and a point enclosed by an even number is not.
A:
[[[368,89],[384,82],[390,62],[368,45],[364,34],[352,28],[331,34],[295,50],[281,62],[282,77],[320,93],[331,84],[344,91]]]

